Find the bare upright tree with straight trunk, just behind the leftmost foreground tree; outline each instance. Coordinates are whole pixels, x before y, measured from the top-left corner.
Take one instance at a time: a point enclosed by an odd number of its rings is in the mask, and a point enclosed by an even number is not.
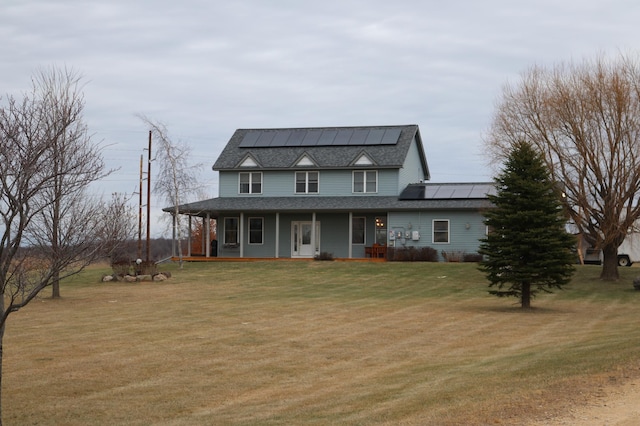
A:
[[[80,82],[80,75],[73,70],[56,68],[42,69],[33,79],[39,137],[50,151],[47,168],[53,181],[34,199],[41,207],[29,243],[47,253],[54,265],[57,258],[65,258],[76,247],[93,240],[100,225],[93,218],[100,213],[101,202],[86,197],[86,189],[111,173],[105,171],[101,149],[92,143],[84,122]],[[80,224],[74,220],[78,216],[90,219]],[[53,271],[53,298],[60,297],[61,273]]]

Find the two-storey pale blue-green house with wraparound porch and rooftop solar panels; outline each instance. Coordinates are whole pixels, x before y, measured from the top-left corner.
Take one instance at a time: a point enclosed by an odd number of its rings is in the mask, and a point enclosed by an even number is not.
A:
[[[493,190],[427,183],[417,125],[238,129],[213,170],[219,197],[179,212],[216,219],[218,241],[205,255],[224,258],[364,258],[410,246],[475,253]]]

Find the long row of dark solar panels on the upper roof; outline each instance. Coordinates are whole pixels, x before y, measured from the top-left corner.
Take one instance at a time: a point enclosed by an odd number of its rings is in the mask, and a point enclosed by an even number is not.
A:
[[[247,130],[241,148],[285,146],[395,145],[400,128]]]

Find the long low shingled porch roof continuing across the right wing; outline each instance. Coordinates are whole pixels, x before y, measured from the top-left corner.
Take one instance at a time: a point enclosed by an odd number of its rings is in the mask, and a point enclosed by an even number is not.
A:
[[[480,210],[491,208],[486,198],[400,200],[397,196],[359,197],[218,197],[179,206],[180,214],[215,218],[235,212],[387,212],[417,210]],[[173,213],[173,207],[163,211]]]

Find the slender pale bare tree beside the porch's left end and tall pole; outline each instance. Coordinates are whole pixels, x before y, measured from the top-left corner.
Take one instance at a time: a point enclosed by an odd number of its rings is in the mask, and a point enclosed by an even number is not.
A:
[[[186,143],[173,142],[164,124],[145,116],[140,116],[140,119],[149,126],[153,140],[158,145],[155,160],[159,171],[154,189],[162,195],[165,202],[173,206],[173,225],[176,231],[178,259],[182,268],[184,257],[182,239],[185,230],[179,214],[179,206],[186,202],[190,195],[198,192],[200,185],[196,173],[202,165],[189,163],[191,148]]]

